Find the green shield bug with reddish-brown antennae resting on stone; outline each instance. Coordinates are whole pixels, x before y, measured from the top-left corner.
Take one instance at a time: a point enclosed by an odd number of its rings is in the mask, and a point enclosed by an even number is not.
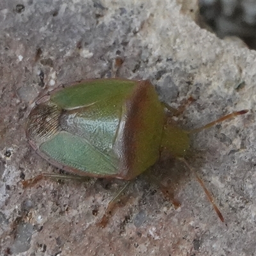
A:
[[[185,156],[189,132],[166,121],[166,106],[149,81],[92,79],[39,99],[28,116],[26,135],[40,156],[67,172],[132,180],[157,162],[161,150]]]

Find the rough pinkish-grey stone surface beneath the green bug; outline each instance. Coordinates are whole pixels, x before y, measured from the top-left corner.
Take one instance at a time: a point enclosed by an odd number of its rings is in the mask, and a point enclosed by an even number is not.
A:
[[[200,29],[186,13],[174,1],[0,3],[1,255],[256,255],[256,54]],[[115,68],[119,57],[124,63]],[[172,161],[156,170],[177,185],[181,207],[141,177],[104,229],[96,223],[122,182],[43,180],[22,188],[23,179],[58,173],[26,141],[33,99],[111,76],[150,79],[173,107],[192,95],[178,120],[184,129],[250,109],[191,136],[189,163],[226,225],[195,177]]]

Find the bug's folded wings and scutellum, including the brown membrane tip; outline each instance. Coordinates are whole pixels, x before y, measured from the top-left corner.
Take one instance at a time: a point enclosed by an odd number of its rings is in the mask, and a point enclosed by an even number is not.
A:
[[[63,170],[116,177],[119,158],[113,145],[122,102],[135,84],[136,81],[99,79],[53,91],[50,99],[29,115],[26,130],[31,145]]]

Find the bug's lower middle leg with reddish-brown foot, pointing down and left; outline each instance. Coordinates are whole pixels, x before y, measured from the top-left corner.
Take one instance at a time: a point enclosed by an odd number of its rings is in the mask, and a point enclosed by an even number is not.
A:
[[[120,189],[118,191],[118,193],[116,193],[116,195],[108,203],[108,206],[107,206],[106,210],[104,211],[104,214],[103,214],[101,220],[99,221],[99,223],[97,223],[97,225],[99,225],[99,227],[101,227],[101,228],[106,227],[106,225],[108,224],[109,218],[111,218],[111,216],[113,214],[113,209],[115,209],[116,204],[120,200],[120,196],[124,193],[125,189],[127,189],[129,187],[131,182],[132,182],[132,180],[128,181],[125,184],[125,186],[122,187],[122,189]]]

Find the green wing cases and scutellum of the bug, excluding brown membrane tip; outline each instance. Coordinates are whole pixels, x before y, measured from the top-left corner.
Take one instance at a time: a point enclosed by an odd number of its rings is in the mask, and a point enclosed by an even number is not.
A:
[[[91,175],[118,173],[113,145],[124,101],[135,85],[136,81],[98,79],[53,92],[51,102],[63,110],[62,132],[45,141],[40,150],[64,166]]]

